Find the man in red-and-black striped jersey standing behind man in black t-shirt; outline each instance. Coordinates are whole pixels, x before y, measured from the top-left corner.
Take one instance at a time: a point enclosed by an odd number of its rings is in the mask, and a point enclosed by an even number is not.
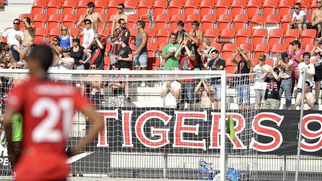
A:
[[[110,64],[113,64],[116,62],[115,57],[119,54],[120,44],[119,44],[119,38],[125,37],[125,45],[128,45],[129,38],[130,38],[130,30],[126,28],[126,22],[124,19],[119,19],[118,21],[119,26],[113,31],[113,34],[111,35],[111,43],[113,43],[112,51],[110,55]]]

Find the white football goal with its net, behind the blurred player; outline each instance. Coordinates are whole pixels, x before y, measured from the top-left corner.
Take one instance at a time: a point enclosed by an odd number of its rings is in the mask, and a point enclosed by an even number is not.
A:
[[[0,70],[5,81],[3,110],[10,89],[25,81],[27,72]],[[252,123],[258,114],[252,74],[72,70],[50,71],[49,77],[77,88],[105,120],[86,151],[67,160],[69,176],[257,178],[257,151],[251,145],[257,140]],[[90,130],[87,119],[75,113],[67,147],[76,145]],[[0,147],[1,173],[11,174],[6,145]]]

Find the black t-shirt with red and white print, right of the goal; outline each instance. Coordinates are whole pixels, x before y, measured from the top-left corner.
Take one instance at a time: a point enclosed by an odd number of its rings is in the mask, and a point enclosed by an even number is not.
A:
[[[277,99],[277,100],[281,100],[280,98],[280,86],[281,86],[281,82],[282,80],[277,81],[274,77],[269,76],[266,77],[265,82],[267,82],[267,86],[266,86],[266,92],[265,92],[265,97],[264,99]]]

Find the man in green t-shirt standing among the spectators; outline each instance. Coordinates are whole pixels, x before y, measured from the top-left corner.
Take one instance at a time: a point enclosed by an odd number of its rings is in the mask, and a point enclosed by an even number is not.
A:
[[[175,58],[175,53],[179,49],[177,43],[177,35],[172,33],[170,35],[170,43],[167,44],[162,51],[162,59],[165,59],[164,70],[170,70],[172,67],[180,69],[180,62]]]

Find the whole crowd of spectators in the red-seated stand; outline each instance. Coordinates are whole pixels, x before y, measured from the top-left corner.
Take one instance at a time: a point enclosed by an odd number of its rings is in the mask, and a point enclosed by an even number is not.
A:
[[[164,70],[225,70],[226,63],[232,62],[236,65],[236,74],[257,73],[255,75],[255,95],[256,109],[279,109],[280,100],[284,93],[285,109],[290,109],[295,83],[297,83],[294,93],[295,106],[299,106],[300,94],[304,88],[304,109],[312,109],[319,101],[320,81],[322,79],[322,15],[319,13],[322,8],[320,0],[316,2],[318,9],[312,13],[312,18],[308,22],[306,14],[301,10],[301,4],[294,5],[294,14],[287,29],[298,28],[300,33],[305,29],[316,29],[316,44],[310,53],[301,50],[301,43],[294,40],[290,43],[292,50],[278,54],[273,67],[266,64],[266,55],[261,54],[259,64],[254,64],[247,51],[241,48],[236,49],[236,53],[229,59],[221,59],[220,53],[209,38],[203,38],[202,31],[198,28],[199,22],[192,22],[192,30],[186,32],[185,23],[177,23],[178,31],[172,33],[169,42],[162,51],[164,60]],[[138,31],[135,42],[129,42],[130,31],[126,28],[128,16],[124,14],[124,5],[118,5],[118,13],[113,18],[113,33],[109,37],[112,43],[110,53],[110,69],[130,70],[131,62],[134,70],[145,70],[147,68],[147,32],[144,30],[145,22],[138,21],[136,29]],[[72,37],[68,27],[61,27],[61,35],[49,41],[52,48],[54,61],[50,69],[56,70],[102,70],[104,69],[104,52],[106,44],[101,41],[106,22],[102,16],[94,12],[95,4],[88,3],[88,10],[77,26],[83,32],[83,42],[78,36]],[[103,28],[98,32],[98,24],[101,22]],[[24,32],[19,30],[20,20],[15,19],[14,27],[0,35],[0,68],[28,68],[26,56],[30,50],[37,46],[33,44],[35,27],[29,18],[24,18]],[[83,26],[85,24],[85,27]],[[83,25],[82,25],[83,24]],[[4,41],[7,38],[7,42]],[[135,51],[129,47],[135,44]],[[317,56],[314,64],[310,63],[311,56]],[[305,87],[302,87],[303,68],[306,68]],[[1,85],[9,80],[1,79]],[[162,87],[161,97],[166,99],[166,107],[174,108],[181,105],[184,108],[188,103],[191,109],[194,108],[196,99],[200,99],[201,108],[220,109],[221,86],[220,78],[185,79],[183,82],[175,80],[167,81]],[[233,79],[236,102],[239,109],[250,109],[250,84],[249,75],[236,76]],[[101,105],[104,88],[103,82],[81,82],[82,87],[90,86],[90,93],[93,99],[98,100]],[[130,101],[129,82],[109,82],[106,85],[113,87],[113,95],[108,100],[110,106],[123,106],[124,100]],[[143,81],[140,86],[146,86]],[[312,87],[315,89],[315,96],[312,94]]]

